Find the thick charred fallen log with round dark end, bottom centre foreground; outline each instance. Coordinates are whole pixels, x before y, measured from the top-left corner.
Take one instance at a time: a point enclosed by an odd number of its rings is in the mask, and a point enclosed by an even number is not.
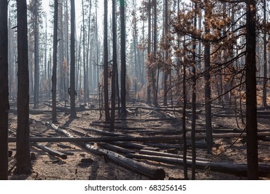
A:
[[[87,150],[90,152],[98,152],[99,155],[104,155],[107,159],[113,161],[115,164],[132,170],[135,173],[145,175],[150,179],[165,179],[165,171],[162,168],[156,168],[154,166],[150,166],[149,164],[144,164],[143,162],[123,157],[123,155],[118,155],[116,152],[95,148],[93,145],[88,143],[85,143],[84,145],[86,145]]]

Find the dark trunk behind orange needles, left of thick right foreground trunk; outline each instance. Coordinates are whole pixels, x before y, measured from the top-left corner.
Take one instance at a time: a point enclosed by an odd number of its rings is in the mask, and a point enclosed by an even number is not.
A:
[[[209,19],[210,19],[210,3],[205,1],[205,33],[210,33]],[[207,141],[207,151],[212,153],[213,147],[213,134],[212,134],[212,115],[211,115],[211,83],[210,83],[210,43],[206,42],[204,44],[204,67],[205,67],[205,109],[206,109],[206,141]]]

